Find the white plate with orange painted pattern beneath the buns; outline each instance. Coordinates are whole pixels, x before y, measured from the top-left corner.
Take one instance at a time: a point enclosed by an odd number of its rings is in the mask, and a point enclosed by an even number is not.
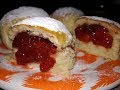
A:
[[[120,60],[103,58],[77,51],[77,61],[70,78],[52,76],[8,63],[7,49],[0,44],[0,87],[7,90],[109,90],[120,84]]]

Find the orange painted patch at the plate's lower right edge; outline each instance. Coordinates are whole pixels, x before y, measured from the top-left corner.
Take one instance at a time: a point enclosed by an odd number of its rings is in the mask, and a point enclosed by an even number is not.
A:
[[[113,71],[115,66],[120,66],[120,60],[106,62],[96,68],[101,75],[99,76],[99,81],[92,87],[93,90],[100,86],[102,87],[112,84],[120,79],[120,73]]]

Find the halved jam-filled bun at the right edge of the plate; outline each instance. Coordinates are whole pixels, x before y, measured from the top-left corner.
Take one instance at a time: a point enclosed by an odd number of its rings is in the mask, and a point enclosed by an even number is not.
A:
[[[120,25],[97,16],[82,16],[75,22],[77,48],[116,60],[120,56]]]

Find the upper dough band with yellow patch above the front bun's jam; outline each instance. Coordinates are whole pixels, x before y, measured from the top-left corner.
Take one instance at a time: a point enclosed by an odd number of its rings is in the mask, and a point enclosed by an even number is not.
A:
[[[19,32],[23,31],[30,31],[32,35],[40,36],[43,38],[49,39],[52,43],[54,43],[58,47],[65,47],[66,46],[66,41],[68,39],[67,35],[65,33],[59,33],[59,32],[54,32],[50,31],[47,28],[40,27],[40,26],[30,26],[30,25],[16,25],[13,26],[12,31],[10,31],[9,34],[9,39],[11,40],[11,43]]]

